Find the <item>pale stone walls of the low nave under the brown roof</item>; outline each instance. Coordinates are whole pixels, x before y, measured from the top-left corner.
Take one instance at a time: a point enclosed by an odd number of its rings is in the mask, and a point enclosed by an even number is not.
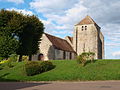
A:
[[[38,55],[42,53],[44,55],[44,60],[68,60],[70,59],[70,53],[71,53],[71,59],[75,58],[75,54],[73,52],[63,51],[59,50],[53,47],[52,43],[49,41],[47,36],[43,34],[41,38],[41,43],[39,46],[39,51],[36,55],[32,56],[32,60],[38,60]],[[64,57],[65,52],[65,57]]]

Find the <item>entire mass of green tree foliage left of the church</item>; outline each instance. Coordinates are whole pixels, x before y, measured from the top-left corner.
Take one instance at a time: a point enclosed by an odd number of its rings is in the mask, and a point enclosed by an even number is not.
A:
[[[1,53],[5,53],[5,57],[16,52],[20,55],[19,61],[22,61],[23,55],[28,55],[29,60],[31,60],[31,56],[38,51],[43,30],[42,22],[34,15],[29,16],[16,11],[0,10],[0,52],[3,51]],[[4,39],[6,42],[3,42]],[[3,45],[7,47],[5,50],[2,49]],[[9,54],[5,51],[8,51]]]

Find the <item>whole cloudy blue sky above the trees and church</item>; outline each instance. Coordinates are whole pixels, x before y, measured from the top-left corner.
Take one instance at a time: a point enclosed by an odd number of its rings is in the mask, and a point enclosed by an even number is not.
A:
[[[86,15],[101,27],[105,58],[120,58],[120,0],[0,0],[0,9],[36,15],[45,32],[64,38]]]

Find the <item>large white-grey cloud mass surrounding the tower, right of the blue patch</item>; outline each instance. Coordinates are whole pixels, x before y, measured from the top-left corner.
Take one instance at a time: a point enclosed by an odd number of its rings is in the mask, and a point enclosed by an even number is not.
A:
[[[76,23],[90,15],[101,27],[105,46],[112,49],[120,46],[119,0],[34,0],[30,7],[47,18],[46,31],[52,34],[68,35]]]

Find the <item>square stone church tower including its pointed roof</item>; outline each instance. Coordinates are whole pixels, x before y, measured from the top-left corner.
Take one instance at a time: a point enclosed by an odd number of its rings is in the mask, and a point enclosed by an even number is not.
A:
[[[100,29],[90,16],[75,25],[73,48],[77,55],[90,51],[95,53],[95,59],[104,58],[104,37]]]

